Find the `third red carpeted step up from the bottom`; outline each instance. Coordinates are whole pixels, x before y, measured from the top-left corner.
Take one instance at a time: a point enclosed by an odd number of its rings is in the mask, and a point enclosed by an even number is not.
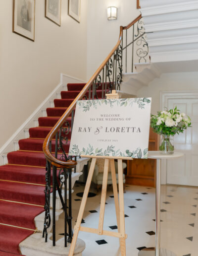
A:
[[[44,205],[44,190],[45,186],[0,181],[0,199],[4,200]]]

